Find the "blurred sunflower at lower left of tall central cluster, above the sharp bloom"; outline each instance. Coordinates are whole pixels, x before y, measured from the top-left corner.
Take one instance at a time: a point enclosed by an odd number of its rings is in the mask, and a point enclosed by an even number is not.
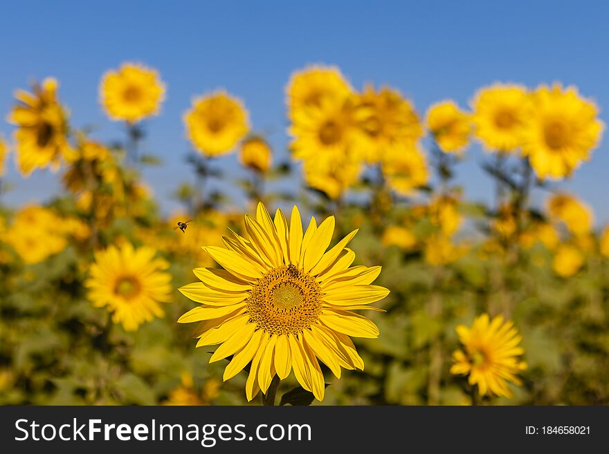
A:
[[[309,158],[305,161],[302,171],[309,187],[318,189],[336,200],[358,180],[362,166],[357,160],[343,155],[327,162]]]

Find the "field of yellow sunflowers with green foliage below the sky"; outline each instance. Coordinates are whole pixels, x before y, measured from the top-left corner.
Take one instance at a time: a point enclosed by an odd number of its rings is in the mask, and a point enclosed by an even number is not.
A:
[[[163,169],[143,143],[170,90],[140,63],[100,75],[111,141],[57,79],[15,91],[0,175],[62,191],[0,193],[0,404],[609,404],[609,229],[561,185],[604,128],[576,87],[415,106],[305,66],[288,150],[205,91],[183,107],[195,183],[166,216],[142,173]],[[489,205],[457,177],[475,142]]]

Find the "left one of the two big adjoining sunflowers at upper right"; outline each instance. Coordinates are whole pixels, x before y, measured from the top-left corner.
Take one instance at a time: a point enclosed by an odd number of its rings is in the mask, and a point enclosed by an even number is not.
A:
[[[532,115],[525,87],[496,84],[482,88],[472,107],[475,135],[485,149],[502,153],[518,149]]]

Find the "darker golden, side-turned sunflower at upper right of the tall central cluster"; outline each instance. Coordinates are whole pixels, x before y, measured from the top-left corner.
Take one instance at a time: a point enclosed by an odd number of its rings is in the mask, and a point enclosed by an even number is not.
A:
[[[367,162],[374,163],[397,146],[417,142],[423,135],[419,115],[409,100],[388,87],[366,86],[355,97],[356,120],[362,140],[357,142]]]

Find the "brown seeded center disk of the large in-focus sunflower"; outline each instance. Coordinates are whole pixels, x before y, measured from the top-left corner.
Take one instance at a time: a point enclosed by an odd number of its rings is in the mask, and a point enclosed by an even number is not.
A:
[[[248,298],[250,319],[270,334],[298,334],[319,318],[319,284],[295,267],[280,266],[266,273]]]

